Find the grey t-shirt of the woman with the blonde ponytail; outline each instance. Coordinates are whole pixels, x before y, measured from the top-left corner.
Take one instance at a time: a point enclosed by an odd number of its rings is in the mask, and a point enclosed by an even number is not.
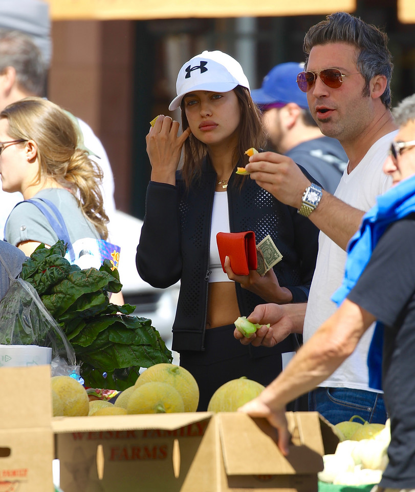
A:
[[[100,239],[94,224],[82,214],[78,201],[68,190],[48,188],[36,193],[34,198],[46,198],[56,205],[72,243],[84,237]],[[33,203],[24,202],[11,211],[6,223],[5,239],[15,246],[23,241],[43,242],[51,246],[60,238],[45,215]]]

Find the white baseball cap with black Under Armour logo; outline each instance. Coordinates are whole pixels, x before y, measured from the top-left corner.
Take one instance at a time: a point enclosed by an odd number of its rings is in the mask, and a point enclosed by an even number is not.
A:
[[[238,61],[222,51],[204,51],[186,61],[180,69],[176,81],[177,96],[168,109],[179,108],[188,92],[229,92],[236,86],[249,90],[248,79]]]

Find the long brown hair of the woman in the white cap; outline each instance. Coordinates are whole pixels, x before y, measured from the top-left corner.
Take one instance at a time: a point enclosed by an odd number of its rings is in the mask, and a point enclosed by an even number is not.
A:
[[[257,105],[252,100],[251,94],[246,87],[236,86],[233,89],[241,108],[241,121],[239,122],[238,146],[235,148],[234,161],[241,161],[245,151],[250,147],[256,149],[263,148],[266,142],[266,134],[263,127],[261,113]],[[184,102],[181,104],[182,128],[189,127]],[[206,144],[198,140],[194,135],[186,139],[183,146],[183,166],[182,175],[186,186],[189,187],[192,180],[198,180],[202,174],[202,161],[208,156],[209,150]],[[245,156],[246,157],[246,156]]]

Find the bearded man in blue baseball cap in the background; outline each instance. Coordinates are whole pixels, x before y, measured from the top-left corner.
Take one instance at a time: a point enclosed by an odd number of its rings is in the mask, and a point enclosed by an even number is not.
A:
[[[302,70],[294,62],[276,65],[261,88],[251,91],[252,99],[263,111],[271,149],[291,157],[334,193],[348,159],[340,142],[324,136],[311,116],[307,94],[296,81]]]

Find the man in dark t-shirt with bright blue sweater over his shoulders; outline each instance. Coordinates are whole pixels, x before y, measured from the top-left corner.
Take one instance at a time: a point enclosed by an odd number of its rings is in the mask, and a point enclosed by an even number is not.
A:
[[[394,187],[378,197],[350,241],[344,280],[333,296],[339,309],[281,376],[241,408],[268,418],[287,454],[286,403],[329,377],[377,321],[367,365],[372,387],[384,389],[391,440],[389,463],[372,492],[415,492],[415,95],[394,115],[400,129],[383,164]],[[261,310],[255,321],[278,323],[271,304]]]

